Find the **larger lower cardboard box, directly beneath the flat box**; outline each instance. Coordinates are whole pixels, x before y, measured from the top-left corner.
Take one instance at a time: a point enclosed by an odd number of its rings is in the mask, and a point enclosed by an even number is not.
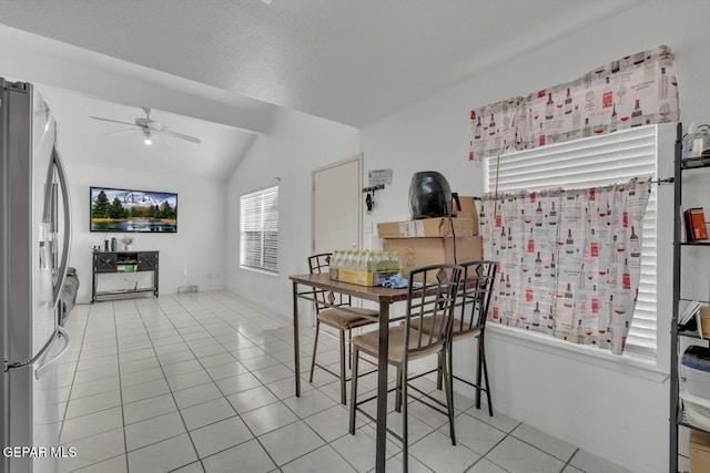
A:
[[[483,259],[484,240],[479,236],[456,238],[386,238],[385,251],[398,251],[402,257],[402,276],[409,277],[409,271],[422,266],[440,263],[466,263]]]

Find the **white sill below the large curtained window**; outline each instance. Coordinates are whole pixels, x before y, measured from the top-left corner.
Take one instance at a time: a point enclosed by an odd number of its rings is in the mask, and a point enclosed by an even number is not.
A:
[[[609,350],[602,350],[597,347],[570,343],[544,333],[498,323],[487,323],[486,332],[488,337],[507,343],[515,343],[531,350],[544,351],[568,360],[618,371],[648,381],[662,383],[669,377],[668,372],[656,366],[655,359],[643,358],[638,354],[627,352],[622,356],[617,356]]]

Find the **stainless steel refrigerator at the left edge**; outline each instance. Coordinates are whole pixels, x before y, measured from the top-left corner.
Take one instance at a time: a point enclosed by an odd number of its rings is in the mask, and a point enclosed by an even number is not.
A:
[[[71,215],[57,125],[38,91],[0,79],[0,472],[55,471],[58,367],[69,348],[58,300]]]

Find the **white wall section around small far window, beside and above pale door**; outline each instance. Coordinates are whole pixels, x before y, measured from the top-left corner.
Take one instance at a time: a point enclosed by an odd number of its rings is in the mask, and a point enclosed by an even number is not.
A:
[[[356,128],[278,110],[273,131],[260,136],[227,188],[227,287],[284,315],[292,312],[288,276],[307,273],[311,254],[311,173],[359,153]],[[240,268],[240,196],[278,185],[278,276]]]

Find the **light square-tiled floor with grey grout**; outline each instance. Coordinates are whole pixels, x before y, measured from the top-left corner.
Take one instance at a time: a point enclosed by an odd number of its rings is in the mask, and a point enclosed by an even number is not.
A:
[[[332,376],[307,370],[313,331],[302,330],[302,390],[294,395],[292,321],[225,291],[77,306],[73,346],[60,368],[61,442],[77,456],[61,472],[371,472],[375,429],[347,432]],[[335,340],[318,358],[337,361]],[[368,378],[373,378],[369,380]],[[362,392],[374,377],[361,381]],[[422,379],[420,385],[435,391]],[[409,410],[412,472],[622,473],[501,413],[488,417],[457,394],[458,443],[446,418]],[[494,404],[495,405],[495,404]],[[399,414],[388,424],[395,430]],[[387,470],[402,449],[387,443]]]

